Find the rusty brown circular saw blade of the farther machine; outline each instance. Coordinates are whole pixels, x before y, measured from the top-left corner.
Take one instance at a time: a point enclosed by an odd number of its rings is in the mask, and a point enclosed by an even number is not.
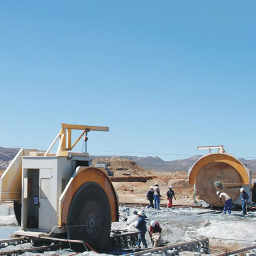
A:
[[[241,187],[240,174],[229,164],[212,162],[204,166],[196,176],[196,190],[200,198],[212,206],[222,206],[216,195],[225,192],[235,200]]]

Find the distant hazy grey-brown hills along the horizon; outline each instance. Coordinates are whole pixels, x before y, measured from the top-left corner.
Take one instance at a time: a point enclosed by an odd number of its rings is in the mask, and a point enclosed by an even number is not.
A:
[[[20,148],[3,148],[0,147],[0,170],[7,168],[11,160],[16,156]],[[130,159],[145,170],[158,170],[158,171],[188,171],[193,164],[202,155],[192,156],[186,159],[179,159],[173,161],[164,161],[161,158],[155,156],[138,157],[138,156],[92,156],[94,159]],[[242,164],[247,166],[249,170],[256,172],[256,160],[246,160],[244,158],[238,158]]]

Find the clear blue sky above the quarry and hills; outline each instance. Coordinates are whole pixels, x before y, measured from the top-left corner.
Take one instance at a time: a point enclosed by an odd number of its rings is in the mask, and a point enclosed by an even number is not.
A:
[[[60,123],[92,155],[256,159],[256,2],[0,2],[0,146],[47,149]],[[77,150],[82,149],[82,141]]]

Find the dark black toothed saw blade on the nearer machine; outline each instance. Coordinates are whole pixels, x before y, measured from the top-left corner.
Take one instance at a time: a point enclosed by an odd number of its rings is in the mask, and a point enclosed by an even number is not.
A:
[[[108,196],[95,182],[83,184],[74,195],[68,211],[68,239],[83,240],[94,250],[110,246],[111,210]],[[70,243],[76,252],[83,244]]]

